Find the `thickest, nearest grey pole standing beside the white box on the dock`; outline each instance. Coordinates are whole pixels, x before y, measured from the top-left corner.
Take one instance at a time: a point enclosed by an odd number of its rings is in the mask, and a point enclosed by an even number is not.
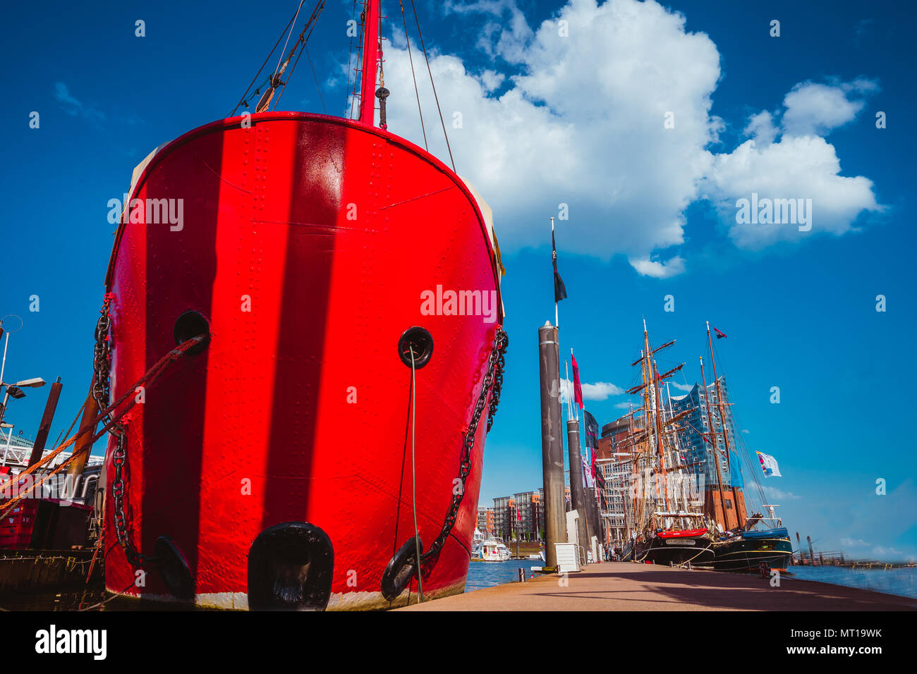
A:
[[[555,543],[564,543],[564,447],[560,410],[558,328],[538,328],[538,364],[541,375],[541,467],[545,480],[545,565],[557,568]]]

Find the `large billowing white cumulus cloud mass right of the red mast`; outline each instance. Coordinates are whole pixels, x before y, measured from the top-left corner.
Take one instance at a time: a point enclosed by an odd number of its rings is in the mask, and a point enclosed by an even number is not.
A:
[[[492,206],[506,251],[547,245],[547,217],[567,204],[558,249],[623,255],[665,279],[690,267],[685,211],[701,199],[745,249],[844,234],[880,208],[872,182],[841,175],[834,147],[817,135],[856,117],[870,81],[797,84],[781,110],[751,116],[746,142],[714,154],[724,129],[711,113],[720,54],[679,12],[655,0],[569,0],[530,25],[514,0],[445,11],[481,27],[481,70],[427,48],[456,167]],[[389,128],[423,145],[403,35],[385,59]],[[425,67],[414,65],[429,149],[448,161]],[[735,225],[735,201],[753,191],[811,198],[812,230]]]

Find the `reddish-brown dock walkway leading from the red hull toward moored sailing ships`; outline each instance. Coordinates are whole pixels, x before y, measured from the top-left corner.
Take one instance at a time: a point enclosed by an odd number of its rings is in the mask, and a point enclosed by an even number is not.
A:
[[[669,569],[631,562],[497,585],[399,611],[913,611],[917,599],[754,574]]]

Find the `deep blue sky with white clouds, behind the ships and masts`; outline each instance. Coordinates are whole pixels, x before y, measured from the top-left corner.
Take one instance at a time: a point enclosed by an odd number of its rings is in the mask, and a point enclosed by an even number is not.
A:
[[[51,439],[91,375],[114,230],[107,201],[150,149],[232,110],[293,5],[8,10],[0,315],[25,326],[10,340],[6,379],[61,377]],[[350,6],[329,0],[309,45],[330,114],[347,107]],[[422,142],[398,6],[383,8],[389,125]],[[645,317],[655,343],[678,339],[660,367],[684,361],[692,383],[710,320],[729,335],[718,366],[746,443],[779,459],[784,477],[767,485],[790,530],[853,556],[917,555],[906,391],[917,315],[911,6],[422,1],[418,13],[447,124],[457,111],[465,120],[449,129],[458,172],[492,205],[508,271],[511,345],[481,503],[541,483],[536,328],[553,318],[548,218],[563,203],[561,349],[575,348],[583,381],[631,385]],[[431,150],[446,159],[421,86]],[[281,107],[322,111],[307,64]],[[812,232],[735,227],[735,199],[756,185],[812,197]],[[674,312],[664,311],[669,294]],[[46,392],[10,405],[27,436]],[[587,407],[606,423],[626,401]]]

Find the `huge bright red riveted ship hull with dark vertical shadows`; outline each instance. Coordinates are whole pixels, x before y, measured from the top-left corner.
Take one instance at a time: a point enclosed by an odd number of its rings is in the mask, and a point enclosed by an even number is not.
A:
[[[203,316],[211,338],[126,417],[127,536],[158,556],[140,582],[116,543],[109,442],[106,587],[249,608],[256,539],[305,523],[333,547],[327,609],[416,602],[415,579],[387,599],[382,575],[413,541],[412,487],[427,547],[452,503],[503,318],[491,233],[455,173],[384,130],[301,113],[250,120],[200,127],[135,176],[141,203],[183,200],[181,227],[126,212],[118,228],[106,282],[111,399],[175,347],[185,312]],[[422,293],[437,286],[492,293],[496,315],[430,315]],[[411,369],[397,348],[411,326],[435,344],[416,370],[415,485]],[[485,407],[456,523],[425,568],[425,597],[464,590],[486,429]],[[171,539],[171,570],[161,536]],[[262,575],[307,575],[329,561],[287,563],[282,546],[267,549]],[[177,559],[191,583],[181,597]]]

